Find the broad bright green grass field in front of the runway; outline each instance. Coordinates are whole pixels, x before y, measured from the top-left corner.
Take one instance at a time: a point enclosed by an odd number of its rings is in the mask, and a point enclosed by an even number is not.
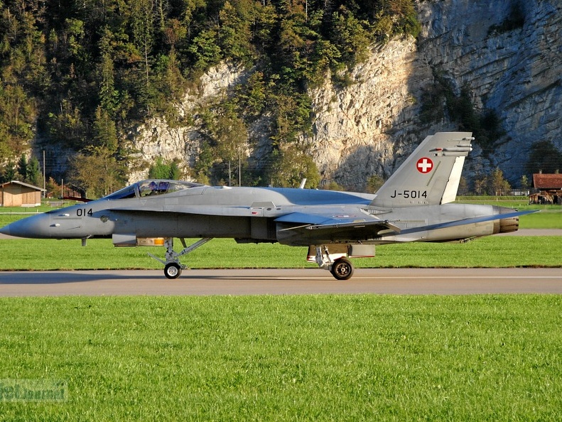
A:
[[[3,421],[559,421],[561,296],[0,298]]]

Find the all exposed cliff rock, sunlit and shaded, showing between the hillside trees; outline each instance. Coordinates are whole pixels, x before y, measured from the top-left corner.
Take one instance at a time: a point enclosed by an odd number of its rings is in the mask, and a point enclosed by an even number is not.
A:
[[[362,190],[370,175],[387,178],[423,137],[458,129],[443,104],[424,99],[436,80],[444,80],[454,95],[468,90],[476,111],[492,110],[502,129],[488,153],[476,144],[467,174],[499,166],[517,184],[534,141],[562,149],[562,3],[445,0],[421,1],[417,7],[418,40],[374,45],[369,60],[350,70],[350,85],[335,88],[327,77],[323,87],[310,92],[315,122],[313,135],[303,141],[323,180]],[[239,67],[213,68],[202,77],[198,94],[185,97],[181,113],[194,114],[245,75]],[[421,119],[424,107],[445,112]],[[250,130],[258,145],[267,138],[264,126]],[[196,123],[171,127],[156,119],[131,139],[147,161],[163,156],[192,165],[200,134]],[[131,179],[145,175],[136,171]]]

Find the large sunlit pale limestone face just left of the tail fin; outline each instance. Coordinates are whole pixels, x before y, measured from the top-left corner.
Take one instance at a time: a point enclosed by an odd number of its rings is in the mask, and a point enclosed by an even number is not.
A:
[[[362,189],[369,175],[390,175],[404,153],[402,143],[421,141],[411,136],[416,99],[409,80],[415,64],[413,39],[390,40],[352,70],[352,85],[335,90],[328,80],[311,93],[316,120],[306,141],[324,180]]]

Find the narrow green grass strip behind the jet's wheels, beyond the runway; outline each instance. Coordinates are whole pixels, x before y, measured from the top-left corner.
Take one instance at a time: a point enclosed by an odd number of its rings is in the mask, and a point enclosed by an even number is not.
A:
[[[178,242],[178,246],[180,244]],[[279,244],[237,244],[213,239],[183,256],[182,263],[201,268],[318,268],[306,262],[306,248]],[[0,240],[0,270],[161,269],[148,256],[163,257],[156,247],[115,248],[109,239]],[[467,244],[392,244],[377,256],[353,259],[357,268],[562,266],[562,237],[485,237]]]

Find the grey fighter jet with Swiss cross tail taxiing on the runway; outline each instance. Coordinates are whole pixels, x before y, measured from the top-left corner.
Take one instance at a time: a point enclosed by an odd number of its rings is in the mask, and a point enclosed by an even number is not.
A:
[[[303,188],[231,188],[178,180],[142,180],[99,200],[28,217],[0,229],[16,237],[112,237],[116,246],[163,245],[167,278],[180,257],[215,237],[239,243],[308,247],[308,261],[337,280],[353,274],[353,257],[377,244],[466,242],[513,232],[519,215],[506,207],[455,201],[472,133],[427,136],[375,195]],[[183,249],[176,252],[173,239]],[[188,246],[186,238],[200,238]]]

